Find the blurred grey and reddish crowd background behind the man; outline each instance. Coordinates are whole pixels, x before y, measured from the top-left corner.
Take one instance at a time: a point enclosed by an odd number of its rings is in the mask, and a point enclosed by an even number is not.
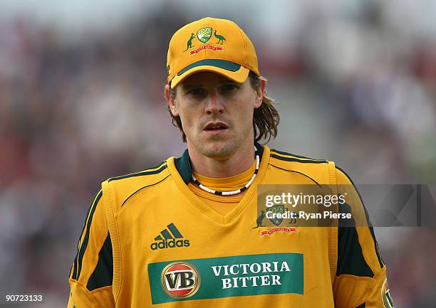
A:
[[[68,23],[31,6],[0,15],[1,303],[65,307],[100,183],[182,154],[162,95],[167,43],[204,16],[254,42],[281,112],[271,147],[334,160],[357,183],[436,183],[435,1],[136,1],[105,16],[111,3],[76,5]],[[436,307],[435,228],[375,233],[395,307]]]

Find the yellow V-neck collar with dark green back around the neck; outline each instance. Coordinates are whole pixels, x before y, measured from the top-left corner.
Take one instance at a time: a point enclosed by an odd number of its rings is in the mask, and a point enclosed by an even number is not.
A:
[[[192,166],[190,161],[189,152],[186,149],[183,155],[180,158],[175,159],[171,157],[167,160],[168,170],[172,175],[172,178],[175,180],[177,187],[180,188],[180,191],[185,194],[185,196],[190,200],[190,202],[197,208],[200,212],[202,212],[205,216],[211,218],[213,221],[216,221],[219,224],[227,225],[232,223],[232,221],[239,216],[240,213],[246,208],[251,199],[256,196],[257,185],[263,179],[266,166],[269,163],[270,150],[266,146],[261,146],[259,143],[255,143],[254,146],[259,153],[259,171],[257,172],[256,178],[254,179],[251,186],[246,190],[246,193],[242,197],[241,201],[235,206],[232,211],[229,211],[226,215],[222,215],[217,213],[212,208],[207,206],[198,196],[195,195],[193,191],[187,186],[187,184],[191,180],[192,175]]]

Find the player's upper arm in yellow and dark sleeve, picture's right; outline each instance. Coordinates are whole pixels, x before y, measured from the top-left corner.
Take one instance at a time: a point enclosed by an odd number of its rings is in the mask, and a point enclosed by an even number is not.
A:
[[[351,179],[336,170],[338,193],[346,193],[341,211],[351,211],[355,223],[339,225],[338,264],[333,285],[338,308],[392,308],[386,280],[386,267],[363,199]],[[386,288],[387,290],[383,290]],[[385,303],[384,303],[385,302]]]

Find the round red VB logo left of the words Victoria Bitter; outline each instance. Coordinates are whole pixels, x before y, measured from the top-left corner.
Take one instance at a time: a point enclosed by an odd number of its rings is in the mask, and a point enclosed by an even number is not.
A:
[[[161,283],[170,297],[191,297],[199,288],[199,272],[186,262],[171,263],[162,270]]]

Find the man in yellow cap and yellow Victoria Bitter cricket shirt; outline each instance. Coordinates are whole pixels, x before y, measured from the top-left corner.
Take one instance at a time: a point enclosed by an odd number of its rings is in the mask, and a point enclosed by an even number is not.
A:
[[[276,136],[279,115],[244,31],[217,18],[180,28],[167,73],[168,110],[187,151],[103,182],[78,243],[68,307],[393,307],[348,176],[331,161],[258,143]],[[265,184],[348,193],[348,211],[367,226],[287,228],[257,204]]]

